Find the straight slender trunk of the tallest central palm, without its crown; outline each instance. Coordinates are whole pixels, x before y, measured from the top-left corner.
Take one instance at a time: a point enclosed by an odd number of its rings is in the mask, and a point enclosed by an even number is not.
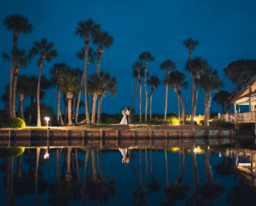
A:
[[[84,49],[84,93],[85,93],[85,111],[86,111],[86,119],[87,124],[91,123],[90,115],[89,115],[89,100],[88,100],[88,81],[87,81],[87,71],[88,71],[88,62],[89,62],[89,43],[85,43]]]

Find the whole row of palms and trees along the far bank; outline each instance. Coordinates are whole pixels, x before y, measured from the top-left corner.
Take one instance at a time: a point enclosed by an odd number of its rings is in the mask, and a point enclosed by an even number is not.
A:
[[[46,62],[50,62],[57,56],[57,50],[54,49],[53,42],[49,42],[46,38],[34,41],[33,46],[26,52],[24,49],[20,49],[17,46],[20,33],[32,32],[33,26],[28,20],[20,14],[10,14],[3,21],[4,26],[8,30],[13,31],[13,48],[10,52],[3,52],[2,56],[5,60],[10,61],[10,77],[9,85],[6,87],[6,93],[1,98],[6,102],[5,110],[8,111],[10,116],[16,116],[16,96],[18,93],[19,100],[19,117],[24,119],[23,115],[23,100],[24,97],[29,96],[31,98],[31,106],[29,110],[29,120],[33,112],[33,101],[36,98],[36,110],[37,110],[37,126],[41,126],[40,117],[40,100],[42,99],[43,90],[48,89],[51,86],[57,86],[58,100],[57,100],[57,121],[61,125],[72,125],[72,115],[78,122],[78,113],[81,101],[82,91],[85,93],[85,114],[87,123],[96,123],[96,102],[98,98],[98,115],[97,124],[101,123],[101,105],[102,98],[109,93],[114,95],[116,93],[117,81],[115,77],[111,77],[109,73],[99,71],[101,57],[104,52],[104,48],[109,48],[113,44],[113,37],[106,31],[101,31],[100,25],[89,19],[81,21],[77,24],[75,34],[80,36],[84,45],[80,52],[77,53],[77,57],[84,60],[84,70],[79,68],[72,68],[65,62],[55,63],[51,68],[51,79],[47,80],[42,75],[42,67]],[[98,46],[95,52],[92,47],[89,47],[91,41]],[[227,68],[223,68],[225,75],[236,84],[236,88],[228,91],[220,90],[223,87],[223,82],[220,80],[217,71],[213,70],[207,60],[201,57],[191,58],[192,51],[199,45],[199,41],[195,41],[191,38],[183,42],[186,48],[188,48],[189,59],[185,63],[185,71],[190,75],[191,79],[191,121],[190,124],[194,125],[194,118],[197,108],[198,90],[205,93],[204,105],[204,124],[207,123],[209,117],[209,108],[212,101],[212,92],[217,93],[214,96],[214,100],[222,105],[222,112],[228,113],[231,107],[231,100],[242,89],[242,87],[248,82],[248,80],[255,75],[256,61],[255,60],[237,60],[231,62]],[[38,77],[19,75],[20,67],[26,68],[31,59],[38,56],[37,66],[39,67]],[[96,71],[94,75],[88,77],[88,65],[94,63],[97,59]],[[141,113],[141,92],[142,92],[142,79],[144,78],[144,90],[145,90],[145,118],[147,122],[147,106],[148,95],[146,83],[152,86],[150,93],[150,112],[149,118],[152,118],[152,98],[154,90],[160,85],[161,80],[156,76],[149,76],[148,63],[154,61],[155,57],[150,52],[142,52],[138,61],[134,62],[132,67],[132,76],[137,78],[135,85],[130,111],[135,98],[135,94],[139,85],[140,99],[139,99],[139,115],[140,123],[142,122]],[[183,124],[186,124],[186,109],[185,102],[182,95],[181,88],[188,87],[188,81],[185,80],[185,74],[177,71],[175,63],[170,59],[163,61],[160,64],[160,69],[166,71],[166,76],[163,79],[163,83],[166,85],[165,90],[165,108],[164,108],[164,120],[167,118],[168,108],[168,88],[174,88],[177,94],[178,100],[178,117],[180,117],[180,102],[182,105]],[[149,79],[147,79],[147,77]],[[37,85],[36,85],[37,84]],[[30,89],[32,88],[32,89]],[[37,90],[35,90],[35,88]],[[61,112],[61,93],[64,96],[65,104],[65,119],[63,121]],[[92,114],[89,113],[89,98],[88,95],[92,95]],[[67,99],[66,99],[67,98]],[[72,109],[73,107],[73,109]],[[132,115],[132,114],[131,114]],[[68,123],[66,123],[68,118]],[[130,121],[130,117],[129,117]]]

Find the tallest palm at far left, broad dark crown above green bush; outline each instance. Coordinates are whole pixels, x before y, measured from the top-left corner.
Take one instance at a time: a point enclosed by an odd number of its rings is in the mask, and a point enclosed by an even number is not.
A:
[[[8,30],[13,31],[13,48],[12,51],[16,51],[17,49],[17,42],[19,39],[19,33],[28,33],[32,32],[33,26],[29,24],[27,18],[23,17],[21,14],[15,13],[10,14],[6,17],[3,21],[3,24],[6,26]],[[9,78],[9,109],[10,109],[10,116],[13,116],[13,109],[12,109],[12,73],[14,67],[14,56],[12,55],[11,59],[11,67],[10,67],[10,78]]]

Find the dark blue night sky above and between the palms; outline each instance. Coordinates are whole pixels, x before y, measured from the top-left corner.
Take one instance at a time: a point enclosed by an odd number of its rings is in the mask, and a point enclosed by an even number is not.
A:
[[[100,71],[110,72],[118,81],[117,94],[106,96],[102,102],[102,112],[121,112],[122,107],[130,105],[135,83],[132,78],[131,65],[138,61],[143,51],[150,51],[155,56],[154,62],[148,63],[150,75],[157,75],[161,80],[165,72],[159,65],[170,59],[175,62],[177,70],[184,72],[188,59],[188,49],[183,41],[193,38],[199,46],[192,57],[205,58],[213,69],[218,71],[224,82],[222,89],[234,88],[231,81],[224,76],[222,69],[231,61],[254,59],[256,48],[256,2],[255,1],[1,1],[0,20],[11,13],[20,13],[33,24],[33,32],[20,35],[18,47],[28,50],[35,40],[45,37],[54,43],[57,58],[44,63],[42,74],[50,76],[50,68],[56,62],[67,62],[72,67],[84,68],[83,61],[76,53],[84,46],[83,40],[74,35],[79,21],[89,18],[101,25],[102,31],[108,31],[114,38],[109,49],[104,49]],[[0,25],[1,52],[12,48],[12,32]],[[93,44],[91,45],[93,46]],[[94,46],[97,48],[96,46]],[[36,65],[38,57],[33,58],[20,74],[38,75]],[[10,62],[0,59],[1,95],[9,83]],[[89,74],[94,73],[96,64],[88,66]],[[190,85],[190,78],[186,73]],[[150,86],[147,87],[148,98]],[[182,89],[186,111],[191,112],[191,88]],[[199,93],[197,113],[204,113],[204,95]],[[145,94],[142,89],[142,111],[145,111]],[[84,95],[82,96],[84,101]],[[42,100],[56,112],[57,90],[52,88]],[[24,108],[28,105],[25,98]],[[62,108],[63,102],[61,102]],[[160,85],[154,91],[153,112],[164,113],[165,87]],[[139,90],[135,97],[134,109],[139,111]],[[148,104],[149,107],[149,104]],[[91,108],[91,107],[90,107]],[[177,112],[177,95],[169,90],[168,113]],[[4,103],[0,101],[0,109]],[[221,107],[212,102],[211,111],[221,112]],[[232,110],[233,111],[233,110]],[[64,112],[64,109],[62,109]],[[85,112],[82,108],[80,112]],[[149,113],[149,109],[148,109]]]

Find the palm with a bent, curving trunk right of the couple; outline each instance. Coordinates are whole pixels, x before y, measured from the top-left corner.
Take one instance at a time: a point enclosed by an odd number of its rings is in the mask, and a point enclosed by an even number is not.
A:
[[[168,81],[168,85],[170,88],[174,87],[174,91],[178,95],[178,99],[182,102],[182,113],[183,113],[183,125],[186,124],[186,110],[185,110],[185,103],[182,96],[182,92],[180,91],[179,87],[187,88],[188,82],[185,80],[185,75],[179,71],[171,72],[169,79],[165,79],[165,82]]]

